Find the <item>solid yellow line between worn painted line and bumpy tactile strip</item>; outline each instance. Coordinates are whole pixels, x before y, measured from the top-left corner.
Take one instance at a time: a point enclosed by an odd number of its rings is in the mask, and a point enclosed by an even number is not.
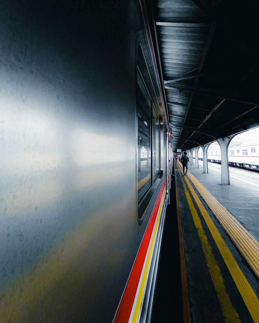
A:
[[[190,173],[188,172],[188,176],[190,177]],[[192,176],[192,175],[191,175]],[[183,180],[182,180],[183,181]],[[206,211],[205,207],[201,203],[200,199],[198,198],[197,194],[195,193],[193,187],[191,186],[190,182],[186,179],[187,185],[189,190],[191,191],[197,206],[208,225],[208,229],[212,234],[215,243],[220,251],[220,254],[223,257],[223,260],[226,266],[229,269],[229,272],[242,296],[242,299],[254,321],[254,323],[259,323],[259,300],[255,295],[253,288],[249,285],[247,279],[245,278],[242,270],[238,266],[236,260],[234,259],[233,255],[231,254],[230,250],[228,249],[227,245],[225,244],[223,238],[221,237],[219,231],[217,230],[216,226],[214,225],[213,221],[211,220],[208,212]],[[201,185],[201,184],[200,184]]]

